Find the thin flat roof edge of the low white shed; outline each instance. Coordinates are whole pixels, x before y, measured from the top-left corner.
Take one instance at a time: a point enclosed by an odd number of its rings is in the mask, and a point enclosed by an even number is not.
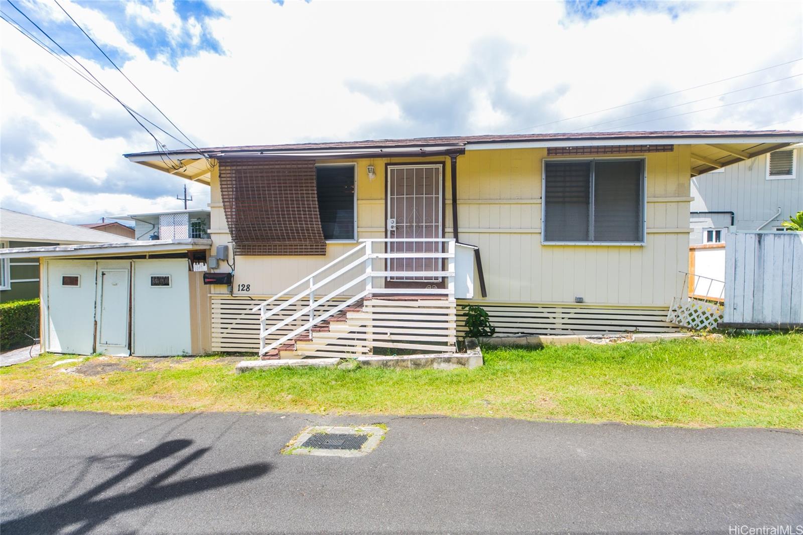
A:
[[[154,239],[120,243],[84,243],[51,247],[0,249],[0,258],[96,258],[99,256],[163,254],[209,249],[211,239]]]

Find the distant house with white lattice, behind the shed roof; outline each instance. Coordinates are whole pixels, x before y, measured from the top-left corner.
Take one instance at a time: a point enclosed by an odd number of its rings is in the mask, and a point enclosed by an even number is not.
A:
[[[134,223],[132,238],[138,240],[209,238],[210,211],[204,209],[128,214],[109,219]]]

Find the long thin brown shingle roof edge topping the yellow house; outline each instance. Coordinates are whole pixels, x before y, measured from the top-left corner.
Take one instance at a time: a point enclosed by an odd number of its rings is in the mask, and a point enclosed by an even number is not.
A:
[[[206,147],[202,153],[237,153],[254,151],[279,150],[316,150],[316,149],[389,149],[411,146],[451,145],[463,147],[469,143],[499,142],[532,142],[532,141],[589,141],[611,139],[650,139],[650,138],[699,138],[717,137],[803,137],[803,131],[797,130],[666,130],[666,131],[633,131],[633,132],[593,132],[593,133],[543,133],[543,134],[489,134],[482,136],[446,136],[446,137],[410,137],[400,139],[379,139],[363,141],[331,141],[316,143],[288,143],[282,145],[234,145]],[[169,153],[197,153],[194,150],[173,150]],[[159,152],[127,153],[124,157],[157,156]]]

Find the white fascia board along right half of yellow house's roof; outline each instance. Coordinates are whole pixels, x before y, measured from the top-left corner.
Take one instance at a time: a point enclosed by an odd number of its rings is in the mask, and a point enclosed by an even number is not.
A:
[[[501,141],[483,143],[469,141],[466,150],[540,149],[544,147],[593,147],[608,145],[707,145],[707,140],[723,144],[801,143],[801,136],[767,137],[617,137],[613,139],[565,139],[544,141]]]

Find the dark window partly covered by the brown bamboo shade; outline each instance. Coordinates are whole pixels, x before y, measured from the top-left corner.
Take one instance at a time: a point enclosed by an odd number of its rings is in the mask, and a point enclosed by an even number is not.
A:
[[[318,213],[327,241],[357,239],[357,195],[354,165],[316,167]]]

